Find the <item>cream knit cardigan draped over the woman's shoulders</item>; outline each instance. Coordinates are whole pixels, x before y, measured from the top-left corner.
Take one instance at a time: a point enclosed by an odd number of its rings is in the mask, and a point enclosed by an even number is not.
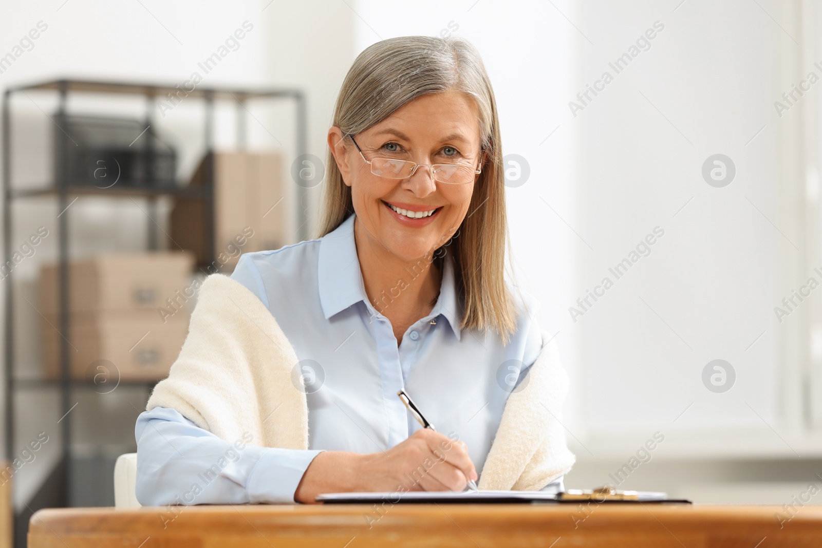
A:
[[[556,344],[542,335],[528,384],[507,400],[480,489],[539,490],[575,462],[557,419],[568,378]],[[248,431],[254,445],[308,449],[306,395],[292,382],[297,362],[260,299],[242,283],[211,274],[201,286],[179,357],[145,409],[174,408],[223,440],[238,440]]]

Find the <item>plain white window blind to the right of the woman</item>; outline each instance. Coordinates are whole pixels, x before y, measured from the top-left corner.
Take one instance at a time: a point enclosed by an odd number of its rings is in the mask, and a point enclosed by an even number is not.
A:
[[[768,219],[780,197],[772,103],[784,35],[753,8],[689,2],[672,12],[658,2],[595,2],[581,13],[596,45],[581,44],[578,87],[603,71],[615,78],[573,118],[585,143],[575,189],[580,223],[594,247],[580,256],[577,294],[610,275],[654,227],[665,230],[624,279],[611,275],[614,288],[576,322],[592,434],[760,431],[763,419],[778,420],[773,308],[782,297],[777,257],[791,243]],[[608,62],[654,21],[664,30],[652,47],[616,74]],[[716,153],[736,163],[728,187],[710,187],[700,174]],[[700,378],[715,358],[737,371],[725,394]]]

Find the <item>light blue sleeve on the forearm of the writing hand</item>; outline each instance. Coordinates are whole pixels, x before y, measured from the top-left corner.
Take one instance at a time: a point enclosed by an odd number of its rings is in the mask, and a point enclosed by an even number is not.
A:
[[[294,503],[319,450],[280,449],[222,440],[173,408],[137,417],[136,498],[167,504]]]

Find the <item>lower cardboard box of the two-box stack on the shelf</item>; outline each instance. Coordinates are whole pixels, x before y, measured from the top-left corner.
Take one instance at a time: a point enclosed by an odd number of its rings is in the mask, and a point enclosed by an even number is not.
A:
[[[60,378],[57,317],[44,317],[44,361],[48,379]],[[188,333],[184,311],[166,317],[157,311],[75,313],[66,335],[72,379],[106,391],[117,380],[160,380],[169,375]]]

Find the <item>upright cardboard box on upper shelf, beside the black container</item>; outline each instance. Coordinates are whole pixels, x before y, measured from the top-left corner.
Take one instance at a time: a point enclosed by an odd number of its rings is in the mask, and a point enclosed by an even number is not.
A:
[[[285,204],[279,202],[284,196],[282,159],[274,153],[210,153],[196,169],[189,183],[192,187],[205,184],[210,162],[215,199],[213,258],[206,253],[205,200],[175,200],[170,237],[176,245],[193,251],[197,265],[209,274],[228,273],[241,253],[279,249],[287,243]]]

